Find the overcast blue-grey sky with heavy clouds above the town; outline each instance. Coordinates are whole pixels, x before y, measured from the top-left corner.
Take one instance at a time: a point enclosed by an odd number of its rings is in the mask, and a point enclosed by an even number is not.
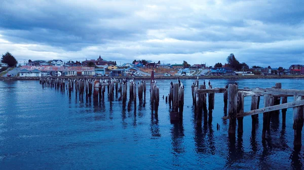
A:
[[[304,1],[0,1],[0,54],[23,60],[304,65]]]

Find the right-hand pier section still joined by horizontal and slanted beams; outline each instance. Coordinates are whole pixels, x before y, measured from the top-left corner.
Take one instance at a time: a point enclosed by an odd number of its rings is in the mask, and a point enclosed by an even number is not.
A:
[[[303,105],[304,105],[304,90],[294,89],[281,89],[281,83],[276,83],[272,88],[244,88],[239,89],[238,85],[230,84],[228,88],[212,88],[209,85],[209,89],[196,89],[194,87],[194,93],[196,93],[197,101],[203,101],[205,104],[204,95],[208,93],[223,93],[224,109],[226,109],[226,101],[228,104],[228,116],[222,119],[229,119],[229,134],[236,133],[236,126],[238,121],[238,133],[243,133],[243,118],[251,116],[252,127],[254,128],[258,114],[263,114],[263,128],[262,139],[266,138],[267,132],[270,133],[271,117],[277,114],[278,110],[282,110],[282,124],[285,125],[286,121],[286,109],[293,108],[293,129],[294,129],[294,146],[301,146],[301,131],[303,127]],[[251,110],[244,111],[244,97],[251,97]],[[259,108],[260,96],[263,97],[264,107]],[[287,97],[293,97],[292,102],[287,102]],[[210,102],[211,100],[211,102]],[[214,104],[212,98],[209,101],[209,108]],[[280,104],[280,101],[282,103]],[[197,102],[196,105],[201,105],[201,102]],[[196,106],[198,107],[198,106]],[[210,111],[210,109],[209,109]],[[205,116],[205,114],[204,114]]]

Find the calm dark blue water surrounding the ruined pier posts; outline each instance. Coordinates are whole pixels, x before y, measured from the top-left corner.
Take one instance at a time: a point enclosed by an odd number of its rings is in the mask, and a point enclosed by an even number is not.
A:
[[[160,96],[171,80],[160,80]],[[176,81],[176,80],[174,80]],[[235,80],[211,80],[224,87]],[[251,117],[244,133],[228,139],[222,120],[223,96],[215,94],[212,123],[197,126],[192,106],[192,80],[182,80],[185,102],[182,123],[170,123],[169,104],[160,98],[158,116],[146,104],[124,108],[115,99],[79,100],[73,92],[42,88],[38,81],[0,82],[0,169],[302,169],[304,149],[293,149],[292,108],[286,127],[281,114],[272,118],[271,133],[261,140],[262,115],[255,132]],[[303,79],[244,79],[239,88],[304,89]],[[200,80],[200,84],[203,81]],[[149,83],[148,83],[149,84]],[[148,85],[147,84],[147,85]],[[129,97],[129,96],[128,96]],[[288,101],[293,100],[292,97]],[[245,111],[251,97],[245,97]],[[260,107],[263,101],[261,97]],[[189,107],[187,107],[189,106]],[[216,124],[220,130],[216,130]],[[302,139],[302,141],[304,141]]]

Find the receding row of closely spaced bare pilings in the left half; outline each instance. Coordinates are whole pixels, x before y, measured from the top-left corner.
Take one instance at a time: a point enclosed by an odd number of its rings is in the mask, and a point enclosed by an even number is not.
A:
[[[146,96],[146,82],[138,81],[135,82],[134,79],[92,79],[92,78],[42,78],[39,80],[42,87],[50,87],[55,89],[60,89],[61,91],[67,91],[68,94],[75,91],[75,94],[79,94],[81,97],[84,95],[86,97],[93,97],[93,99],[104,99],[108,98],[109,101],[113,101],[115,96],[118,97],[119,101],[126,104],[127,101],[127,90],[129,84],[129,101],[134,101],[136,103],[137,97],[139,102],[142,102]],[[137,86],[137,88],[136,88]],[[105,91],[107,93],[105,95]],[[137,96],[138,94],[138,96]],[[157,95],[158,94],[158,95]],[[158,93],[154,94],[159,96]],[[130,102],[129,102],[130,103]],[[159,105],[159,99],[154,100],[157,106]]]

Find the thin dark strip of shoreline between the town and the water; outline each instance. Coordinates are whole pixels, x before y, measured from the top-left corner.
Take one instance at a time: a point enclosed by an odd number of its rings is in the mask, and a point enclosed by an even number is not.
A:
[[[156,80],[168,80],[168,79],[197,79],[197,76],[156,76],[155,79]],[[48,77],[44,77],[44,78],[48,78]],[[52,77],[52,78],[57,78],[57,77]],[[64,78],[64,79],[68,79],[68,78],[85,78],[84,76],[80,76],[80,77],[58,77],[58,78]],[[93,76],[90,76],[88,78],[95,78]],[[108,79],[108,78],[114,78],[114,77],[96,77],[97,79]],[[117,79],[120,78],[127,78],[127,79],[137,79],[137,80],[149,80],[150,76],[143,76],[143,77],[124,77],[124,76],[117,76],[115,77]],[[254,75],[254,76],[199,76],[199,79],[303,79],[304,75],[290,75],[290,76],[278,76],[278,75],[271,75],[271,76],[261,76],[261,75]],[[39,80],[41,79],[41,77],[0,77],[0,80]]]

